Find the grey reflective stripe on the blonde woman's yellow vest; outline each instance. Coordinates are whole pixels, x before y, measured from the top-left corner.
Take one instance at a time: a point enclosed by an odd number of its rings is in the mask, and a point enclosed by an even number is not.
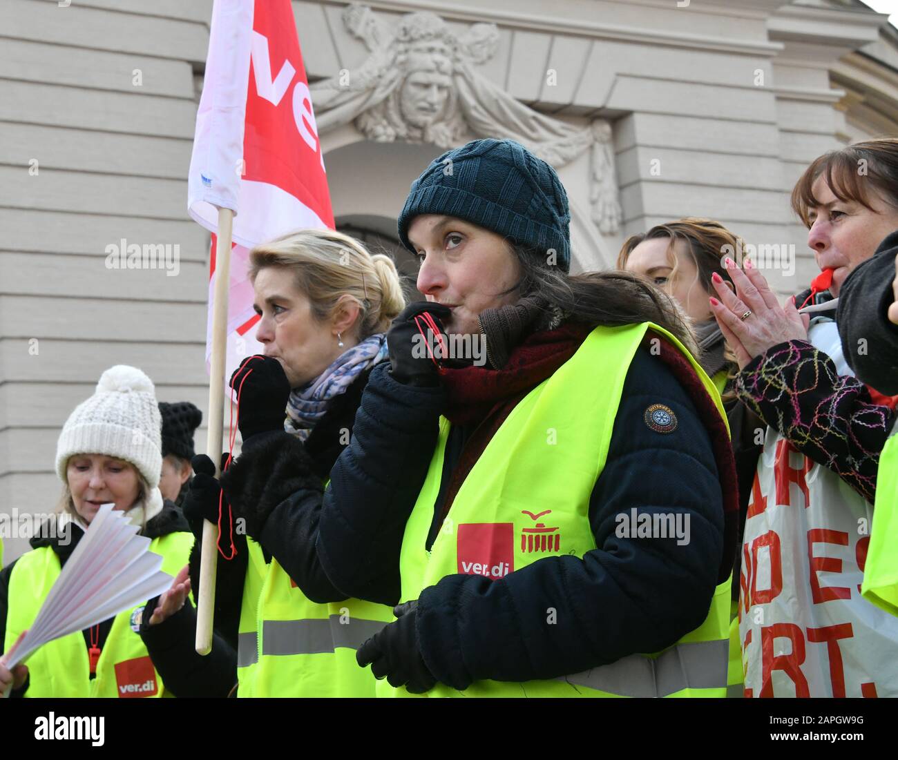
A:
[[[384,625],[381,620],[349,618],[340,623],[339,615],[327,620],[264,620],[262,621],[262,654],[321,654],[336,647],[358,649]]]

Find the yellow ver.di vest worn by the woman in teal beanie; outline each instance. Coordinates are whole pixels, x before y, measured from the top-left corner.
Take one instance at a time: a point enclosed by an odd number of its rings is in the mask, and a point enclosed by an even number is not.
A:
[[[465,478],[428,552],[450,429],[441,419],[436,450],[402,542],[402,601],[417,599],[422,590],[469,566],[468,572],[500,578],[547,556],[582,557],[596,548],[589,500],[608,455],[629,364],[648,329],[682,351],[726,424],[718,390],[670,333],[650,323],[595,328],[577,353],[524,397],[499,427]],[[535,525],[533,513],[543,515]],[[462,556],[465,546],[489,546],[489,561]],[[709,557],[709,562],[717,561]],[[729,608],[727,579],[715,590],[704,623],[665,651],[633,654],[552,680],[481,680],[464,692],[437,684],[424,695],[722,697]],[[613,610],[608,614],[613,616]],[[383,696],[412,695],[385,680],[377,689]]]

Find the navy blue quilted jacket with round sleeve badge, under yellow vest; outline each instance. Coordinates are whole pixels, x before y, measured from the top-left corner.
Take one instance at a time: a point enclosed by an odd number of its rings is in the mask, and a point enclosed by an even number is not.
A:
[[[644,414],[653,404],[674,410],[674,432],[647,426]],[[443,389],[405,386],[392,379],[387,363],[377,367],[323,497],[291,494],[272,511],[263,540],[309,598],[399,601],[405,524],[444,408]],[[694,382],[687,389],[665,362],[638,350],[590,502],[598,548],[582,559],[546,558],[499,581],[458,574],[425,590],[418,635],[434,675],[446,683],[560,676],[659,651],[700,625],[735,556],[735,515],[725,520],[724,508],[737,502],[735,477],[725,486],[719,475],[735,469],[721,431],[707,394],[697,394]],[[445,473],[465,433],[456,432],[454,445],[450,439]],[[688,513],[689,545],[617,537],[615,517],[633,507]],[[523,607],[554,607],[557,624],[522,616]]]

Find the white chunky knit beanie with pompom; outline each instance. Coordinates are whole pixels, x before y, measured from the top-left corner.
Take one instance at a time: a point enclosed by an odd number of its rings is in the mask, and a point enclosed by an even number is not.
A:
[[[147,484],[145,515],[162,510],[162,418],[153,380],[127,364],[103,372],[92,397],[75,406],[57,441],[57,475],[67,483],[66,467],[75,454],[104,454],[133,464]]]

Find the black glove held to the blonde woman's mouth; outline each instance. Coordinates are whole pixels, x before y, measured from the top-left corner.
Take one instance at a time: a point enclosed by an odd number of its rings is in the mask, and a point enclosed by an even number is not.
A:
[[[260,354],[244,359],[231,375],[231,388],[240,394],[237,427],[243,441],[259,432],[284,430],[290,381],[277,359]]]

